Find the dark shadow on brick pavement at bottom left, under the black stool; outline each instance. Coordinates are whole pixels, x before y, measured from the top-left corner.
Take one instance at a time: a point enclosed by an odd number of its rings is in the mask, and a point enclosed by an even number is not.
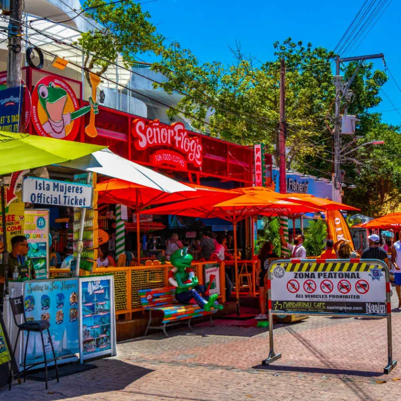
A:
[[[98,368],[60,377],[59,383],[56,380],[50,380],[49,390],[45,390],[45,383],[41,381],[27,380],[25,383],[18,384],[18,381],[14,380],[11,391],[8,390],[8,386],[0,388],[0,399],[55,401],[95,393],[99,394],[101,399],[102,392],[123,390],[134,381],[153,372],[152,369],[113,358],[99,359],[91,363]]]

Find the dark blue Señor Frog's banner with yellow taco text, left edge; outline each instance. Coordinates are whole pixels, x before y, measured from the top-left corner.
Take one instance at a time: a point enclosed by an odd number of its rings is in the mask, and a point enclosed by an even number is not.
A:
[[[23,86],[0,90],[0,131],[19,131],[23,95]]]

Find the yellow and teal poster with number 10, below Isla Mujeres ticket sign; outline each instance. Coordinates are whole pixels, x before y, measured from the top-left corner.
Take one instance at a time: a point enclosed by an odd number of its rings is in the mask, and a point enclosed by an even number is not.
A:
[[[49,211],[27,209],[24,234],[28,241],[28,257],[37,279],[49,278]]]

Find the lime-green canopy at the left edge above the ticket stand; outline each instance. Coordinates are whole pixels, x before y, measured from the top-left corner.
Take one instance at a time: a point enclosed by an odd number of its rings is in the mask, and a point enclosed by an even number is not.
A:
[[[77,159],[105,146],[0,131],[0,175]]]

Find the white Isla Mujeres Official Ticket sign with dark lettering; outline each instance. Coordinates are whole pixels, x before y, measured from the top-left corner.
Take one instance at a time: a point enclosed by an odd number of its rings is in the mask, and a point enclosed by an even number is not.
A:
[[[26,203],[75,208],[92,205],[93,187],[89,184],[26,177],[22,191]]]

